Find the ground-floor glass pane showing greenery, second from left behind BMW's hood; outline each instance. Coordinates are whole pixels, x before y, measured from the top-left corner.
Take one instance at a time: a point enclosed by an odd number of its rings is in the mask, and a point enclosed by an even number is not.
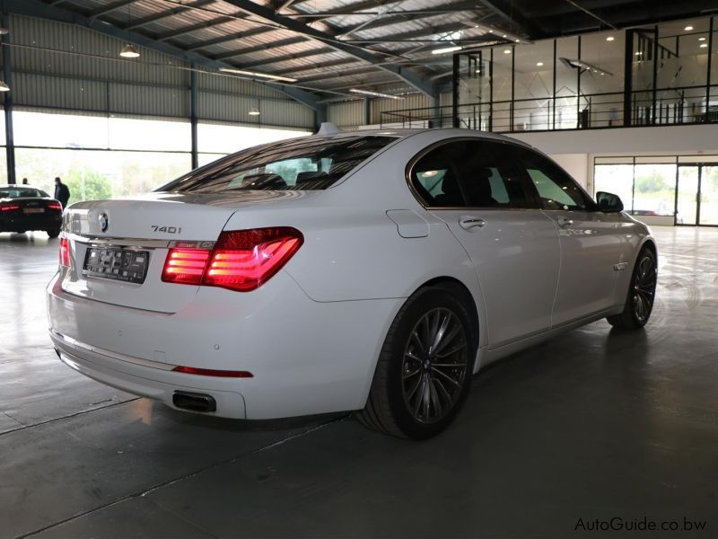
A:
[[[676,204],[676,165],[636,164],[633,214],[672,216]]]

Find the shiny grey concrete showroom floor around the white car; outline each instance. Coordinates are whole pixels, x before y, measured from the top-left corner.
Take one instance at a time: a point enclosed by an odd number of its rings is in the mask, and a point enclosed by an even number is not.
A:
[[[718,229],[654,232],[645,331],[592,323],[487,369],[423,443],[80,376],[46,335],[57,240],[0,234],[0,537],[566,537],[612,517],[718,536]]]

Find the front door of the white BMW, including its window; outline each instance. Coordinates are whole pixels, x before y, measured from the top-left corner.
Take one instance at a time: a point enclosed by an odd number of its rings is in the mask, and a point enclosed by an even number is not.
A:
[[[552,325],[613,306],[617,272],[626,269],[617,230],[620,215],[599,211],[573,178],[546,156],[518,146],[513,151],[559,234],[561,272]]]

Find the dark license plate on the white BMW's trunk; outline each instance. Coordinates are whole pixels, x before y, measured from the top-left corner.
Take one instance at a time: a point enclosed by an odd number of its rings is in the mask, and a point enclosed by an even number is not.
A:
[[[147,251],[90,247],[84,255],[83,276],[142,284],[149,260]]]

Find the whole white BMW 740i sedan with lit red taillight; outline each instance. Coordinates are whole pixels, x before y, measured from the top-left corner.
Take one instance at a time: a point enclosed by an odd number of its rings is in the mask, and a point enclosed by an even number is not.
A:
[[[180,410],[357,411],[444,429],[471,376],[559,331],[648,320],[656,245],[546,155],[459,129],[302,137],[66,210],[68,366]]]

